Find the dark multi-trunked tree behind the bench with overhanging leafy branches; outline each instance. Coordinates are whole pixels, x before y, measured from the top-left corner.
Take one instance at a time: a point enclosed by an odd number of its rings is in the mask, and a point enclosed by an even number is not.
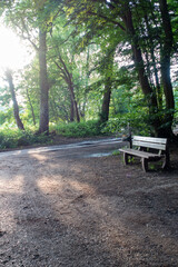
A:
[[[73,0],[67,0],[68,14],[70,19],[86,23],[86,27],[90,27],[92,17],[96,18],[99,23],[102,23],[103,30],[108,27],[118,28],[118,43],[120,42],[120,34],[122,34],[125,43],[129,43],[132,51],[132,58],[135,67],[139,77],[140,87],[145,95],[148,107],[150,110],[150,122],[155,129],[155,135],[167,136],[172,135],[171,125],[174,119],[174,93],[170,81],[170,55],[172,51],[172,31],[170,24],[170,18],[168,12],[168,6],[166,0],[159,1],[123,1],[123,0],[98,0],[98,1],[80,1],[76,3]],[[154,16],[152,16],[154,14]],[[146,23],[145,17],[149,20],[151,26],[151,36],[148,36],[148,23]],[[144,30],[142,30],[144,29]],[[121,33],[121,31],[123,33]],[[95,32],[98,34],[98,32]],[[157,34],[157,36],[156,36]],[[148,39],[159,39],[159,43],[152,43],[152,56],[157,55],[157,62],[155,65],[155,75],[157,76],[157,89],[158,77],[161,76],[164,86],[164,99],[166,101],[166,108],[159,103],[156,87],[150,81],[150,73],[152,72],[152,62],[150,47],[148,47]],[[149,41],[151,46],[151,41]],[[147,65],[147,61],[150,61]],[[159,60],[160,59],[160,60]],[[161,71],[159,66],[161,66]],[[149,68],[149,69],[148,69]],[[159,90],[160,92],[161,90]],[[160,96],[159,96],[160,97]],[[159,99],[160,100],[160,99]],[[169,115],[169,116],[167,116]]]

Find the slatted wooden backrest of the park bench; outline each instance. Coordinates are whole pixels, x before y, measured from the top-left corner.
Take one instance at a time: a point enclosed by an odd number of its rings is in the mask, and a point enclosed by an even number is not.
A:
[[[132,146],[166,150],[167,149],[167,139],[166,138],[134,136],[132,137]]]

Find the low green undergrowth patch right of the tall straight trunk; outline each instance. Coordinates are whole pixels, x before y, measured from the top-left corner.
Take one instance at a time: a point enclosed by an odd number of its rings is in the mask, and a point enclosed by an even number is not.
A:
[[[90,120],[87,122],[71,122],[68,125],[59,125],[57,134],[65,137],[92,137],[101,135],[100,127],[97,120]]]

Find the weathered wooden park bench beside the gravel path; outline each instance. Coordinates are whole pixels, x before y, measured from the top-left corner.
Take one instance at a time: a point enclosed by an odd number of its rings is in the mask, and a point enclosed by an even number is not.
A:
[[[169,149],[166,138],[134,136],[130,148],[121,148],[119,151],[123,152],[126,165],[129,164],[129,157],[140,157],[144,171],[148,171],[149,161],[160,159],[164,159],[164,169],[169,167]]]

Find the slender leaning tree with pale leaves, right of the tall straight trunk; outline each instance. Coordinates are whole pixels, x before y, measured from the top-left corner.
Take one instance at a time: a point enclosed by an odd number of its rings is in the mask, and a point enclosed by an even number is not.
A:
[[[76,51],[73,49],[75,37],[71,34],[72,26],[65,27],[66,22],[65,16],[57,17],[52,21],[50,38],[48,39],[51,48],[49,51],[49,62],[51,61],[55,63],[52,68],[58,69],[58,76],[67,85],[70,97],[70,121],[76,119],[79,122],[80,115],[73,79],[73,69],[76,69]]]

